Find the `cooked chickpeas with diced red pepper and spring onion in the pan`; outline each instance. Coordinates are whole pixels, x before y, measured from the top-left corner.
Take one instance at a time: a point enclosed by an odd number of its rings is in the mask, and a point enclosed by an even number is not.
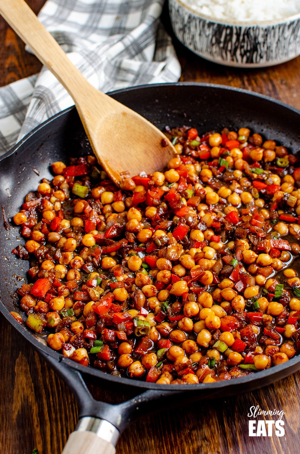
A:
[[[178,155],[164,172],[116,188],[94,156],[71,158],[27,194],[13,251],[30,260],[26,325],[81,365],[160,384],[288,361],[300,352],[298,157],[248,128],[165,134]]]

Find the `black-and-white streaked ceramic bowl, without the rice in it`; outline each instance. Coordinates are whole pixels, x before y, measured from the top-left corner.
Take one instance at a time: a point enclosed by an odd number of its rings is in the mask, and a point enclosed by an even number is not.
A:
[[[300,55],[300,14],[259,24],[220,23],[169,0],[179,41],[201,57],[240,68],[272,66]]]

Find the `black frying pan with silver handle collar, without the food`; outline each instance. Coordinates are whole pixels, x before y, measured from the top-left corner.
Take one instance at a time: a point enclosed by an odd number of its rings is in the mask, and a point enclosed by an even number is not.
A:
[[[205,133],[213,129],[220,131],[224,126],[229,129],[247,126],[263,137],[290,147],[294,153],[300,149],[300,111],[241,89],[211,84],[157,84],[119,90],[111,93],[111,96],[145,116],[160,129],[166,125],[186,124]],[[19,211],[24,195],[35,190],[41,178],[53,177],[49,172],[50,163],[57,160],[68,163],[68,156],[81,156],[89,152],[91,148],[73,108],[55,115],[36,128],[0,159],[0,205],[3,206],[5,217],[11,219]],[[116,153],[121,152],[120,144]],[[187,403],[195,399],[225,397],[254,390],[300,369],[300,356],[296,356],[282,365],[233,380],[199,385],[157,385],[114,377],[63,358],[10,315],[10,311],[16,311],[15,291],[22,284],[22,281],[17,282],[17,276],[25,278],[29,265],[11,253],[14,247],[22,243],[19,228],[5,228],[5,224],[0,223],[3,258],[0,261],[0,311],[73,391],[80,407],[77,430],[94,431],[116,444],[127,424],[144,412],[157,410],[158,406],[166,408],[174,403],[180,405],[183,401]],[[85,374],[97,377],[100,385],[117,384],[131,394],[135,389],[137,395],[119,405],[98,402],[87,390],[82,378]]]

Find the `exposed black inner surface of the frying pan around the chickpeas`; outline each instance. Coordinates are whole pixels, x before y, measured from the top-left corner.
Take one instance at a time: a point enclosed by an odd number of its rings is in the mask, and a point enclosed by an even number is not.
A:
[[[160,84],[120,90],[111,96],[161,130],[166,125],[188,125],[197,128],[201,134],[220,131],[225,126],[229,130],[248,127],[285,145],[293,153],[300,149],[300,112],[250,92],[207,84]],[[10,219],[19,211],[24,196],[37,188],[41,178],[53,178],[49,172],[50,163],[58,160],[68,163],[68,157],[88,153],[92,150],[77,112],[68,109],[37,128],[9,156],[0,160],[0,205],[3,212],[3,221],[0,222],[0,300],[8,311],[19,311],[15,292],[29,269],[29,262],[16,259],[11,253],[14,247],[24,244],[24,239],[19,234],[19,227],[10,224]],[[116,150],[118,153],[122,153],[121,143]],[[1,307],[0,310],[3,311]],[[8,316],[7,311],[5,316]],[[24,334],[26,329],[19,327]],[[46,335],[39,338],[44,344]],[[25,336],[34,341],[31,334]],[[34,343],[36,348],[41,345]],[[58,357],[48,347],[42,346],[42,349],[50,350],[52,356]],[[294,360],[300,362],[300,359]],[[73,367],[77,368],[76,363]],[[98,370],[93,370],[92,374],[102,378],[104,375]],[[134,385],[133,380],[123,381]]]

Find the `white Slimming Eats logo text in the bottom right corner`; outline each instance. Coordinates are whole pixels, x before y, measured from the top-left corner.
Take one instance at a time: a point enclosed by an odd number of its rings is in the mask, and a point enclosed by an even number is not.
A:
[[[285,434],[284,421],[282,416],[285,415],[283,410],[261,410],[258,405],[250,407],[248,418],[257,416],[276,416],[278,419],[249,419],[249,437],[283,437]]]

